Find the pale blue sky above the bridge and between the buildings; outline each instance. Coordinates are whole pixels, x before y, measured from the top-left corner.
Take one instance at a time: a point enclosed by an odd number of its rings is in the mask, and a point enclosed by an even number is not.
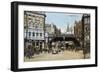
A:
[[[62,32],[66,31],[68,24],[74,26],[75,21],[81,18],[82,14],[46,12],[46,23],[54,23]]]

